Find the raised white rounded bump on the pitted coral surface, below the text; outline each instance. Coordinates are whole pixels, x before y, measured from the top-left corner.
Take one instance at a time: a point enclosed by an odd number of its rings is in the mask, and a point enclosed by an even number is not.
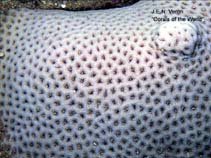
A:
[[[158,49],[191,54],[197,44],[197,27],[191,22],[167,22],[161,24],[154,41]]]

